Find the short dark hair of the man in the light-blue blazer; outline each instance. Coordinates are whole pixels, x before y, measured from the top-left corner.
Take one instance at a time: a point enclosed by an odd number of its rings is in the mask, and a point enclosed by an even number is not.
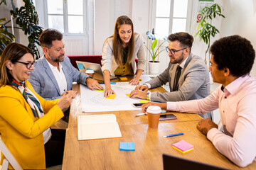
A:
[[[50,49],[50,47],[53,46],[54,40],[62,40],[63,35],[60,33],[60,31],[55,29],[46,29],[41,33],[39,37],[39,42],[42,47],[47,47]]]

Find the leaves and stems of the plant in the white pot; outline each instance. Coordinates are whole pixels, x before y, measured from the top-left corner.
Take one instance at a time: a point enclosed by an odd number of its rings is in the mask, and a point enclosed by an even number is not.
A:
[[[155,62],[156,57],[159,56],[159,54],[164,51],[164,50],[161,50],[159,52],[159,48],[161,47],[161,45],[164,44],[164,42],[166,42],[166,38],[164,38],[164,41],[161,42],[159,47],[156,48],[158,40],[156,40],[155,36],[153,34],[149,33],[149,31],[146,32],[146,35],[148,36],[151,45],[150,45],[150,48],[146,47],[146,45],[145,45],[145,47],[147,50],[149,50],[149,54],[152,58],[152,62]]]

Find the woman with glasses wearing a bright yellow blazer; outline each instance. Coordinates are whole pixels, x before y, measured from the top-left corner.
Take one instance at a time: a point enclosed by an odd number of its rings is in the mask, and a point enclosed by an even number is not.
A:
[[[76,92],[55,101],[41,98],[26,81],[33,63],[33,52],[16,42],[1,56],[0,133],[23,169],[46,169],[44,144],[51,137],[49,128],[63,117],[61,110],[70,105]],[[3,159],[1,154],[1,164]]]

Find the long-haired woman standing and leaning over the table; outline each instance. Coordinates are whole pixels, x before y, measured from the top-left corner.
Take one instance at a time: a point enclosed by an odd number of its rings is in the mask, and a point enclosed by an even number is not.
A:
[[[105,81],[105,97],[114,94],[110,86],[110,75],[136,77],[130,84],[139,84],[145,66],[145,50],[142,35],[134,33],[132,20],[127,16],[119,16],[114,26],[114,35],[105,40],[102,51],[102,72]],[[138,66],[135,63],[138,58]]]

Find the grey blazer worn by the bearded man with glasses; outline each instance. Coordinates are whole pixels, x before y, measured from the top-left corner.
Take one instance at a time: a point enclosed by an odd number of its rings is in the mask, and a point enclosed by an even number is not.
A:
[[[178,64],[169,63],[169,67],[158,77],[147,81],[151,88],[162,86],[169,82],[171,92],[152,92],[151,101],[188,101],[205,98],[210,95],[210,79],[208,68],[201,57],[188,55],[186,63],[181,69],[181,77],[178,79],[178,91],[174,91],[174,79]],[[201,115],[203,118],[210,118],[210,113]]]

